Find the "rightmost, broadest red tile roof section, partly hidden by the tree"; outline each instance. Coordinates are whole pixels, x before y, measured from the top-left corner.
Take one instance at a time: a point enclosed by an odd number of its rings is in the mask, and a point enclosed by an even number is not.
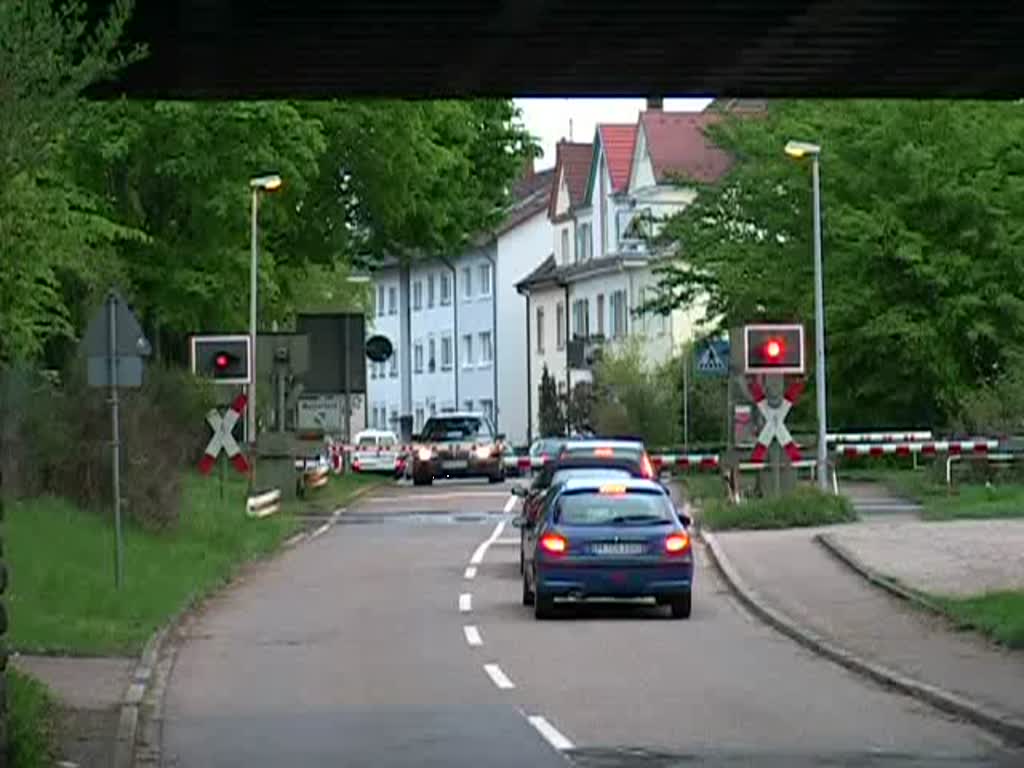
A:
[[[732,166],[732,158],[705,135],[706,128],[721,120],[721,114],[708,112],[640,113],[654,178],[664,182],[678,174],[705,183],[722,178]]]

